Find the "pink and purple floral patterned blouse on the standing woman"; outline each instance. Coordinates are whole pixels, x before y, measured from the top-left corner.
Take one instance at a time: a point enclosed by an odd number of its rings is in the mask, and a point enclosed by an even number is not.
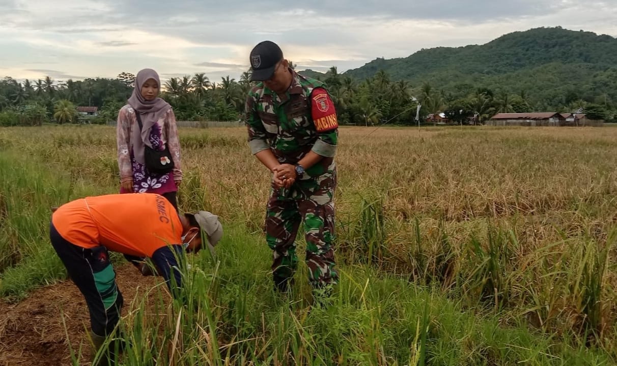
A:
[[[133,142],[131,131],[139,128],[135,110],[130,105],[125,105],[118,113],[118,126],[116,129],[116,140],[118,144],[118,168],[120,168],[120,182],[133,179],[133,192],[135,193],[167,193],[176,192],[175,181],[182,180],[182,166],[180,162],[180,139],[178,139],[178,128],[176,128],[176,116],[173,110],[165,113],[152,126],[150,131],[150,143],[152,148],[159,148],[165,144],[169,147],[172,154],[174,168],[167,174],[150,173],[146,166],[138,163],[133,156]],[[131,193],[120,188],[120,193]]]

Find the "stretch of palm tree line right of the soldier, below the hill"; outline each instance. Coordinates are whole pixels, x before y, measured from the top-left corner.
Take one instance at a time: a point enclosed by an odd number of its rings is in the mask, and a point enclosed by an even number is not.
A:
[[[450,91],[438,89],[431,83],[415,86],[410,81],[392,80],[384,70],[360,82],[339,74],[336,67],[331,67],[323,76],[311,74],[328,85],[339,120],[362,126],[384,123],[410,125],[418,123],[418,120],[420,123],[431,123],[428,116],[440,113],[456,124],[482,124],[496,113],[574,113],[582,110],[594,120],[612,121],[615,118],[615,105],[597,104],[576,97],[566,99],[567,102],[557,107],[550,107],[545,101],[529,97],[525,90],[510,94],[468,84],[465,89]],[[416,114],[418,105],[420,111]]]

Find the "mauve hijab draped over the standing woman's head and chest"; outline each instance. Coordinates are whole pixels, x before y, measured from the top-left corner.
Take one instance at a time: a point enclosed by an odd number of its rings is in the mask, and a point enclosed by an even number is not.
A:
[[[144,164],[144,145],[152,147],[152,144],[150,143],[150,129],[157,123],[157,121],[160,120],[160,118],[164,118],[165,113],[172,108],[172,106],[165,102],[165,100],[160,99],[159,97],[154,100],[144,99],[141,95],[141,87],[149,79],[154,79],[159,84],[160,91],[159,74],[151,68],[144,68],[137,73],[135,78],[135,89],[133,89],[133,94],[128,99],[128,104],[133,107],[135,113],[139,113],[139,116],[141,116],[141,122],[143,123],[141,134],[139,133],[139,128],[133,128],[133,131],[131,132],[133,154],[135,156],[135,160],[140,164]]]

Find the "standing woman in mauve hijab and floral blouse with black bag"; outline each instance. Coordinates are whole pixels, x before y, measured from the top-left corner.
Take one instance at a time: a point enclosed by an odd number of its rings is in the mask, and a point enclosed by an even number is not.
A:
[[[178,209],[176,192],[182,181],[180,140],[172,107],[159,98],[160,79],[156,71],[144,68],[135,78],[128,104],[120,109],[117,124],[120,193],[159,193]],[[138,122],[141,119],[141,128]],[[168,173],[148,171],[146,147],[169,148],[173,169]]]

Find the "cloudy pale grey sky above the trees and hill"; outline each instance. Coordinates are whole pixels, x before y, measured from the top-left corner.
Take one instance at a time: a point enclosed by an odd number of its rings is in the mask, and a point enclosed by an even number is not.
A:
[[[300,70],[562,26],[617,36],[617,0],[0,0],[0,77],[56,81],[154,68],[238,78],[269,39]]]

